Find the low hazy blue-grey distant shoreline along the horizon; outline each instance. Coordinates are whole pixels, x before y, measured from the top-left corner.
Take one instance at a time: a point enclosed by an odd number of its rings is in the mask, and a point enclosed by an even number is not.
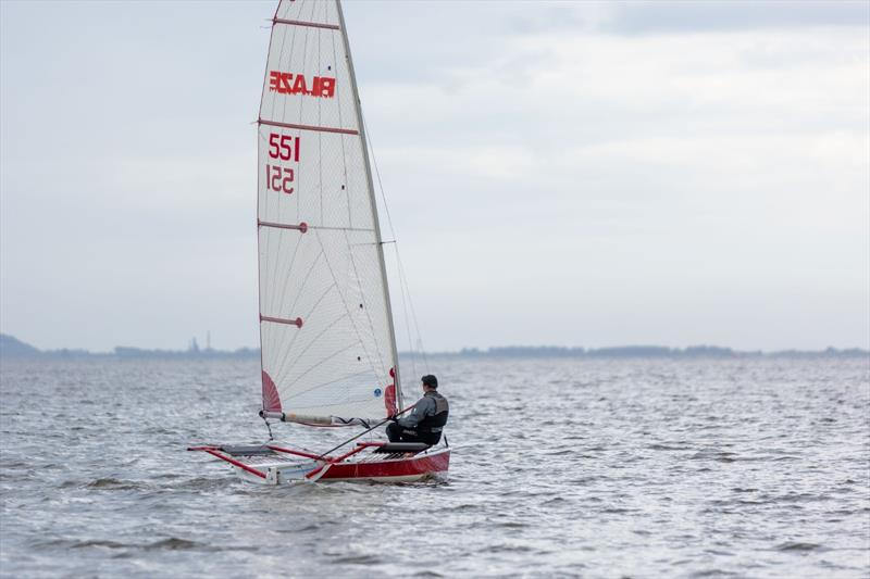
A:
[[[717,345],[693,345],[688,348],[669,348],[664,345],[620,345],[612,348],[563,348],[554,345],[511,345],[480,350],[464,348],[458,352],[399,352],[402,357],[411,355],[427,357],[468,357],[468,358],[518,358],[518,357],[562,357],[562,358],[626,358],[626,357],[661,357],[661,358],[812,358],[812,357],[868,357],[870,351],[859,348],[838,350],[828,348],[819,351],[782,350],[776,352],[738,351]],[[88,350],[39,350],[22,342],[12,336],[0,333],[0,358],[3,360],[232,360],[258,358],[259,348],[239,348],[238,350],[199,349],[196,343],[187,350],[148,350],[119,345],[112,352],[90,352]]]

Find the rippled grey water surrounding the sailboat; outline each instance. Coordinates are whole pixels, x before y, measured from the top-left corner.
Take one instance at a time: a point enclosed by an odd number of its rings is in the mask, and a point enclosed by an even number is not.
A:
[[[256,361],[4,361],[0,572],[870,575],[867,360],[430,370],[447,480],[270,488],[185,452],[263,440]],[[276,427],[321,451],[346,433]]]

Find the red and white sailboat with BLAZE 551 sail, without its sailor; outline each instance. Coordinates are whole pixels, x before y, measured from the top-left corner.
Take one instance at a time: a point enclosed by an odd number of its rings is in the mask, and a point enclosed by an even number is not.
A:
[[[446,473],[446,438],[436,446],[357,442],[410,406],[339,0],[279,1],[258,150],[260,416],[266,425],[365,430],[323,453],[272,442],[189,450],[268,484],[413,481]]]

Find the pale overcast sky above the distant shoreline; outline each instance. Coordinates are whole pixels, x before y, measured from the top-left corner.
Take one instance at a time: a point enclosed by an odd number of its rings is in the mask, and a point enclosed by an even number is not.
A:
[[[273,12],[0,1],[0,331],[258,344]],[[870,348],[870,3],[345,16],[426,350]]]

